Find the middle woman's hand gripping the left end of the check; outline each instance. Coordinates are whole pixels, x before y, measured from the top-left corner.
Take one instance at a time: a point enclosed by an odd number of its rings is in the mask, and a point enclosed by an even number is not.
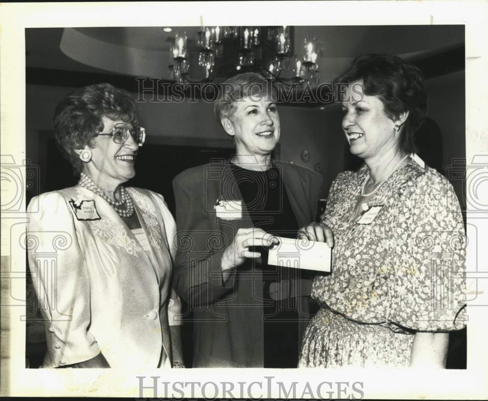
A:
[[[278,238],[262,229],[239,229],[234,241],[225,249],[222,255],[222,271],[231,271],[242,265],[247,258],[261,256],[259,252],[249,251],[249,247],[269,247],[279,243]]]

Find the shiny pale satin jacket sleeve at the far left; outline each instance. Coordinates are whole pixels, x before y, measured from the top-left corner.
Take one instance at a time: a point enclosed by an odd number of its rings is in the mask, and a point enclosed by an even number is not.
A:
[[[32,208],[36,202],[37,212]],[[46,320],[44,367],[71,365],[100,353],[89,331],[90,280],[69,207],[61,194],[50,192],[27,208],[29,268]]]

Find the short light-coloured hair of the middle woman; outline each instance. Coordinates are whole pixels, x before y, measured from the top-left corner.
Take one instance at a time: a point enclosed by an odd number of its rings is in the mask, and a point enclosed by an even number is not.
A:
[[[219,98],[214,103],[214,116],[219,124],[224,117],[231,118],[237,109],[236,103],[249,96],[270,96],[276,100],[276,88],[272,79],[264,79],[255,72],[235,75],[220,86]]]

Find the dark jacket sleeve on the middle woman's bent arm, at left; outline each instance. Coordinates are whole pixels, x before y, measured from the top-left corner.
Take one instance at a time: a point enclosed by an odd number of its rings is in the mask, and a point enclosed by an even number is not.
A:
[[[173,188],[178,225],[174,288],[190,307],[210,304],[234,289],[235,270],[224,281],[221,267],[225,246],[233,238],[223,238],[211,226],[205,214],[204,185],[190,188],[176,178]]]

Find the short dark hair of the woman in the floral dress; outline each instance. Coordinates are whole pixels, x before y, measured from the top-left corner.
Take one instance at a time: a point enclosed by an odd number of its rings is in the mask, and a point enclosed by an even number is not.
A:
[[[413,153],[415,132],[427,115],[427,92],[422,71],[398,56],[365,54],[354,59],[334,79],[334,84],[337,88],[337,85],[360,80],[366,96],[380,98],[388,118],[394,120],[408,111],[400,147],[407,153]]]

